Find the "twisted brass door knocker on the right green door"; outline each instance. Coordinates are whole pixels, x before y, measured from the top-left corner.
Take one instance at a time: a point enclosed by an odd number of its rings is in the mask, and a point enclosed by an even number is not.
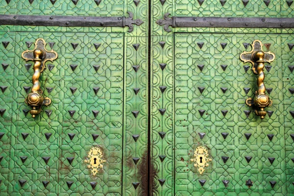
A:
[[[253,106],[255,108],[255,113],[260,116],[261,119],[264,119],[267,115],[267,111],[265,111],[265,107],[269,107],[272,104],[272,100],[266,94],[266,86],[264,83],[265,73],[264,67],[265,63],[271,63],[275,59],[275,55],[272,52],[264,52],[262,47],[263,44],[259,40],[255,40],[253,44],[251,44],[252,50],[250,52],[242,52],[240,54],[240,59],[246,62],[250,62],[252,64],[253,73],[258,74],[257,78],[257,91],[255,91],[255,97],[247,98],[246,104],[248,106]]]

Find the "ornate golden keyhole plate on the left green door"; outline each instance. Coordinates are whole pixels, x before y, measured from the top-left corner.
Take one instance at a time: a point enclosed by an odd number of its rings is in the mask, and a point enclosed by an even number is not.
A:
[[[84,160],[85,163],[88,163],[88,168],[91,169],[92,175],[96,175],[99,169],[103,169],[102,163],[106,161],[103,160],[102,151],[98,147],[92,147],[88,154],[88,159]]]

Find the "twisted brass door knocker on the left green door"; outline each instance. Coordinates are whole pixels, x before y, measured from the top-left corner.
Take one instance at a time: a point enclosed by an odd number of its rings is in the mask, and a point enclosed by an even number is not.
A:
[[[34,74],[32,76],[33,87],[27,98],[25,98],[25,103],[32,107],[29,113],[33,118],[40,114],[42,111],[42,105],[48,106],[51,103],[50,98],[45,98],[43,96],[43,91],[40,89],[41,85],[39,78],[45,69],[45,62],[52,62],[58,57],[58,54],[53,50],[48,51],[45,48],[46,44],[47,43],[44,39],[37,39],[35,42],[35,49],[27,49],[22,53],[22,57],[25,59],[25,61],[34,61]]]

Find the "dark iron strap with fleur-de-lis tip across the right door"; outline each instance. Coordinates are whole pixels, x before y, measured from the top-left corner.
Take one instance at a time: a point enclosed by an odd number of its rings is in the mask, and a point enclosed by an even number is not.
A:
[[[244,28],[294,28],[294,18],[218,18],[218,17],[175,17],[158,20],[158,25],[170,32],[172,27],[244,27]]]

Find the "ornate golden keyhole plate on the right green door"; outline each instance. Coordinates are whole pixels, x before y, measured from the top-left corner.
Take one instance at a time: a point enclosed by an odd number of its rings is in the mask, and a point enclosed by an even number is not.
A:
[[[192,162],[194,163],[194,167],[198,168],[198,172],[202,174],[205,171],[205,167],[208,167],[209,161],[212,161],[212,159],[209,158],[207,149],[205,147],[197,147],[195,152],[194,152],[194,159],[191,159]]]

